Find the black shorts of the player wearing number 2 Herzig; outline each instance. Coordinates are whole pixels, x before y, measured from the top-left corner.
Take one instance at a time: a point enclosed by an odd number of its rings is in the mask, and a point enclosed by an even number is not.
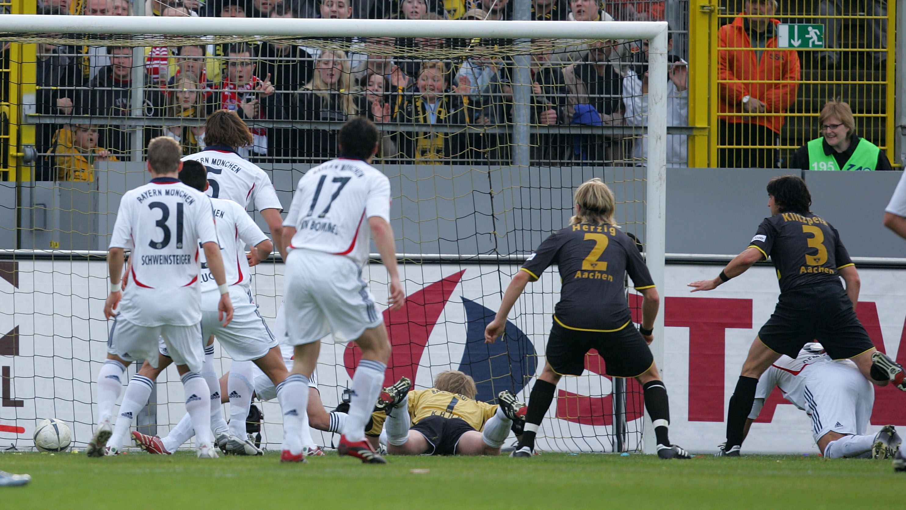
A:
[[[582,375],[585,353],[592,349],[601,354],[607,375],[613,377],[639,376],[654,363],[651,349],[632,324],[618,332],[580,332],[554,322],[545,356],[558,374]]]

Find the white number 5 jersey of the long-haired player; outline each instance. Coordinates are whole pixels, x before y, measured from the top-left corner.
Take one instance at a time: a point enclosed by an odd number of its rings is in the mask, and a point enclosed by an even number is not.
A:
[[[207,168],[207,196],[233,200],[247,208],[252,204],[255,210],[283,210],[274,184],[267,177],[265,170],[255,163],[246,161],[236,151],[226,147],[207,147],[201,152],[183,157],[183,161],[193,159]]]

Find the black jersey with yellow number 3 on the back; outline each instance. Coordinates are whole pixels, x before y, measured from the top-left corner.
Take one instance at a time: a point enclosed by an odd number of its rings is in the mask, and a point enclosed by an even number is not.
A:
[[[837,270],[853,265],[837,229],[812,213],[766,217],[749,247],[761,251],[765,260],[771,257],[781,293],[814,284],[843,286]]]

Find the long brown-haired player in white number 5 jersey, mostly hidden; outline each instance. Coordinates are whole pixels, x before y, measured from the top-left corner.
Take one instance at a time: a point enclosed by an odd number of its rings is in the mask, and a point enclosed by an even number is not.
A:
[[[183,161],[196,160],[207,167],[207,196],[233,200],[243,208],[252,204],[265,218],[271,236],[280,239],[283,232],[283,206],[265,170],[243,159],[237,149],[252,144],[252,132],[236,111],[218,110],[205,120],[205,144],[201,152],[189,154]],[[253,250],[251,265],[258,263]]]

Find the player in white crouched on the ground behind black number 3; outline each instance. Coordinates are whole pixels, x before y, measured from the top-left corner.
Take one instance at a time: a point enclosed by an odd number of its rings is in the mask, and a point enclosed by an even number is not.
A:
[[[745,433],[775,387],[808,413],[814,442],[824,457],[886,458],[900,447],[900,436],[891,425],[866,434],[874,405],[872,383],[853,361],[832,360],[820,343],[806,343],[795,360],[781,356],[761,375]]]

